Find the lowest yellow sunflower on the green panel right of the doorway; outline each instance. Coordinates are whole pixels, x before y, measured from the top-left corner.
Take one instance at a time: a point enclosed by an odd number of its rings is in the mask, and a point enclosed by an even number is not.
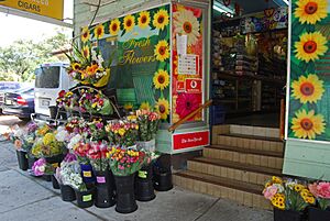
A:
[[[314,110],[309,112],[306,110],[297,111],[292,123],[292,130],[298,139],[314,140],[317,134],[323,133],[326,129],[324,117],[322,114],[316,115]]]

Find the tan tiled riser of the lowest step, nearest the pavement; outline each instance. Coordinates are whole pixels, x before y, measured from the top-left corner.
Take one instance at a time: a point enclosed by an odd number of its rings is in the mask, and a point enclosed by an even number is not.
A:
[[[200,192],[205,195],[210,195],[218,198],[226,198],[238,203],[244,205],[246,207],[254,207],[260,209],[268,209],[272,207],[270,202],[262,196],[250,192],[244,192],[241,190],[222,187],[219,185],[209,184],[206,181],[195,180],[187,177],[182,177],[174,175],[173,181],[176,186],[189,189],[195,192]]]

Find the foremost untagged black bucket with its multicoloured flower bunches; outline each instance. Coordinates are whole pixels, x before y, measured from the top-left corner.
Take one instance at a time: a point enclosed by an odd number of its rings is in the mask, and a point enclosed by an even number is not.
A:
[[[117,188],[116,211],[130,213],[138,209],[134,196],[134,175],[141,169],[144,161],[144,152],[120,146],[111,148],[110,168]]]

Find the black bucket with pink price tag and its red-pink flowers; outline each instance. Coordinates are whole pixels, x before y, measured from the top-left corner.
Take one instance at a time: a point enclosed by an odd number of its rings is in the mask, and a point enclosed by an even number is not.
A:
[[[109,169],[109,151],[106,142],[92,142],[88,158],[96,176],[95,206],[109,208],[116,203],[114,179]]]

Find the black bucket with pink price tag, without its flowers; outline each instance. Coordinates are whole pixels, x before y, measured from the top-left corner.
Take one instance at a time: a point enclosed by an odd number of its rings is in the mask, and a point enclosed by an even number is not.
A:
[[[111,172],[95,172],[96,195],[95,206],[98,208],[109,208],[116,205],[113,175]]]

